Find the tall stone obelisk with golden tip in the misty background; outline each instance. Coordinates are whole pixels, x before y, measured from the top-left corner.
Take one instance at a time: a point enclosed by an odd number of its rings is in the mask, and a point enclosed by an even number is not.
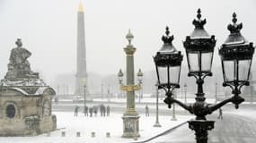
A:
[[[77,45],[76,45],[76,75],[75,75],[75,96],[84,97],[84,86],[86,86],[86,100],[92,100],[88,92],[85,35],[84,35],[84,8],[80,3],[77,13]]]

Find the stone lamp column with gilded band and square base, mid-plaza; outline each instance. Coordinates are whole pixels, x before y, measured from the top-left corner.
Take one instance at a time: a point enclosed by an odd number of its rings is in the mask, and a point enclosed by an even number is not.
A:
[[[121,89],[127,92],[127,110],[123,114],[123,135],[122,138],[137,139],[139,135],[138,119],[135,108],[135,91],[139,90],[140,85],[134,83],[134,53],[136,48],[131,45],[131,40],[134,38],[130,30],[126,36],[128,39],[128,46],[124,48],[127,55],[127,85],[121,85]]]

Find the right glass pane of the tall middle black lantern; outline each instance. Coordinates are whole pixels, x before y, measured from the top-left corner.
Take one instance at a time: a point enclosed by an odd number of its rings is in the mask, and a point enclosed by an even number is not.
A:
[[[202,71],[211,71],[213,53],[202,53],[201,55],[201,69]]]

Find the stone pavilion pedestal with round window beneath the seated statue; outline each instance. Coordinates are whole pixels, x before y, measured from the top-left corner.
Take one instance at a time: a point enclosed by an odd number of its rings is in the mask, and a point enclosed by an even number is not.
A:
[[[35,136],[57,129],[52,88],[39,79],[0,83],[0,136]]]

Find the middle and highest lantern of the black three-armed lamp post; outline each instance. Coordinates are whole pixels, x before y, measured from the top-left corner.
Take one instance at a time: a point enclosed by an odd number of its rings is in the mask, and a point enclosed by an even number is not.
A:
[[[194,20],[192,22],[193,25],[195,25],[195,29],[183,42],[189,65],[189,76],[211,76],[212,59],[216,39],[214,35],[209,36],[207,31],[204,29],[204,25],[207,21],[206,19],[201,20],[200,9],[198,10],[197,17],[198,20]]]

